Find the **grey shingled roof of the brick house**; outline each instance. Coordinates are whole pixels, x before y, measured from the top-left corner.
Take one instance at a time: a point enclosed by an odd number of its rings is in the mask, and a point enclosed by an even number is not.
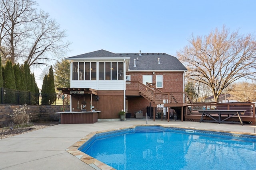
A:
[[[123,58],[130,59],[128,71],[187,71],[186,67],[176,58],[166,53],[111,53],[98,50],[82,55],[68,57],[68,59],[82,58]],[[158,64],[158,58],[160,64]],[[134,67],[136,59],[136,67]]]

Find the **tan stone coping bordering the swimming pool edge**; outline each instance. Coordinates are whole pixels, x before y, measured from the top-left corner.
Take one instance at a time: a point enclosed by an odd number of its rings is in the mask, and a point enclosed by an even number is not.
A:
[[[115,168],[93,158],[92,156],[78,150],[79,147],[81,147],[84,143],[86,143],[88,140],[90,140],[94,135],[99,133],[106,133],[106,132],[112,132],[112,131],[119,131],[123,129],[134,129],[136,126],[161,126],[161,127],[174,127],[172,125],[162,125],[162,124],[143,124],[143,125],[132,125],[130,127],[122,127],[122,128],[116,128],[116,129],[108,129],[104,131],[95,131],[91,132],[88,135],[82,137],[79,141],[74,143],[72,146],[68,147],[66,151],[74,156],[76,158],[80,159],[82,162],[88,164],[92,168],[96,170],[116,170]],[[175,127],[177,128],[177,127]],[[198,128],[192,128],[192,127],[179,127],[180,129],[190,129],[190,130],[199,130],[199,131],[212,131],[212,132],[221,132],[221,133],[230,133],[230,134],[238,134],[238,135],[252,135],[256,136],[254,133],[244,133],[244,132],[231,132],[231,131],[221,131],[221,130],[212,130],[212,129],[198,129]]]

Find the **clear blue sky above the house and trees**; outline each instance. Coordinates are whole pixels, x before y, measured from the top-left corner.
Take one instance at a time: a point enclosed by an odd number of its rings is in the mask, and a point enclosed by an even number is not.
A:
[[[36,0],[72,43],[68,56],[104,49],[113,53],[176,56],[193,34],[226,25],[254,34],[255,0]],[[42,85],[38,84],[40,88]]]

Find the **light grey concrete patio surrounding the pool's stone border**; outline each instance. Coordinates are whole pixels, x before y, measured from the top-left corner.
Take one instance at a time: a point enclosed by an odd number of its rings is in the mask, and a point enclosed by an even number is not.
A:
[[[65,149],[93,131],[146,124],[146,119],[98,121],[93,124],[54,125],[0,140],[2,170],[94,170]],[[173,127],[254,133],[254,125],[199,123],[148,119],[148,124],[168,124]]]

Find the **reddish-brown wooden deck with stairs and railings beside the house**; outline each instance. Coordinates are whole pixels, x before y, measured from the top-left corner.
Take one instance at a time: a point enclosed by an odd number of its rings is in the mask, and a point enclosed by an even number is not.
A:
[[[142,96],[151,106],[154,107],[152,115],[156,115],[156,107],[163,104],[166,108],[179,108],[181,121],[200,121],[202,114],[198,110],[202,109],[222,109],[222,110],[246,110],[241,115],[244,124],[255,124],[255,104],[251,102],[237,103],[196,103],[193,104],[186,92],[162,92],[151,84],[144,85],[141,82],[131,81],[126,84],[126,96]],[[215,115],[214,115],[215,116]],[[154,116],[155,119],[155,116]],[[211,119],[207,117],[206,119]],[[218,119],[218,115],[216,115]],[[168,119],[169,121],[169,119]],[[238,116],[230,117],[228,121],[240,122]],[[226,122],[225,122],[226,123]]]

